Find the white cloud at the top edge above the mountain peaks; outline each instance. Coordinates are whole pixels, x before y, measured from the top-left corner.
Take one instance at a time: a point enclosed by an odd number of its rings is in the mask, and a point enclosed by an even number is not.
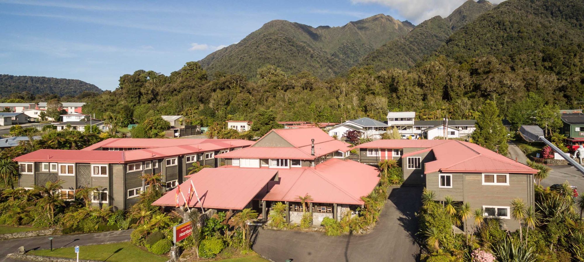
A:
[[[352,3],[373,3],[395,10],[400,16],[418,24],[434,16],[449,16],[466,0],[351,0]],[[493,4],[504,0],[489,1]]]

